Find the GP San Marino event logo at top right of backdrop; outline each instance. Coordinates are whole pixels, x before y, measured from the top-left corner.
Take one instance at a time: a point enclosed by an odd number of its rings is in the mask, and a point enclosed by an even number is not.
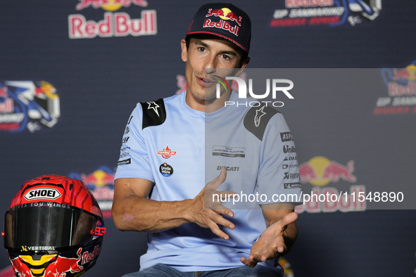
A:
[[[273,13],[270,27],[355,26],[382,11],[382,0],[284,0]]]

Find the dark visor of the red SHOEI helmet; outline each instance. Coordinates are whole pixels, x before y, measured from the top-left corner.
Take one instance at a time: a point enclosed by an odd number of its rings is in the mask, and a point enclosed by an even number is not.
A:
[[[13,207],[4,218],[4,246],[20,250],[55,250],[94,238],[99,218],[75,207],[51,202]],[[37,206],[34,206],[37,205]]]

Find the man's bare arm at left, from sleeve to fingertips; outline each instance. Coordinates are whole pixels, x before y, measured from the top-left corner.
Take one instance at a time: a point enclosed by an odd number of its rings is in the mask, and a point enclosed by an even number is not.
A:
[[[223,217],[233,217],[233,212],[222,206],[219,210],[211,210],[205,205],[206,190],[215,191],[225,181],[226,176],[227,170],[223,167],[220,175],[207,183],[194,199],[181,201],[150,200],[147,198],[152,186],[149,180],[116,179],[111,209],[115,227],[121,231],[158,232],[194,222],[202,228],[210,228],[215,235],[228,240],[229,236],[218,225],[233,229],[234,224]]]

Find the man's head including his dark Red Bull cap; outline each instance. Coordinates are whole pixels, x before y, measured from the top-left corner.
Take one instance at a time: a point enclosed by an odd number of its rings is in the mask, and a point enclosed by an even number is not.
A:
[[[246,67],[250,39],[250,18],[236,6],[206,4],[198,9],[186,39],[181,41],[182,60],[187,63],[187,103],[191,108],[196,108],[193,104],[203,106],[206,101],[215,101],[216,69],[237,72]]]

